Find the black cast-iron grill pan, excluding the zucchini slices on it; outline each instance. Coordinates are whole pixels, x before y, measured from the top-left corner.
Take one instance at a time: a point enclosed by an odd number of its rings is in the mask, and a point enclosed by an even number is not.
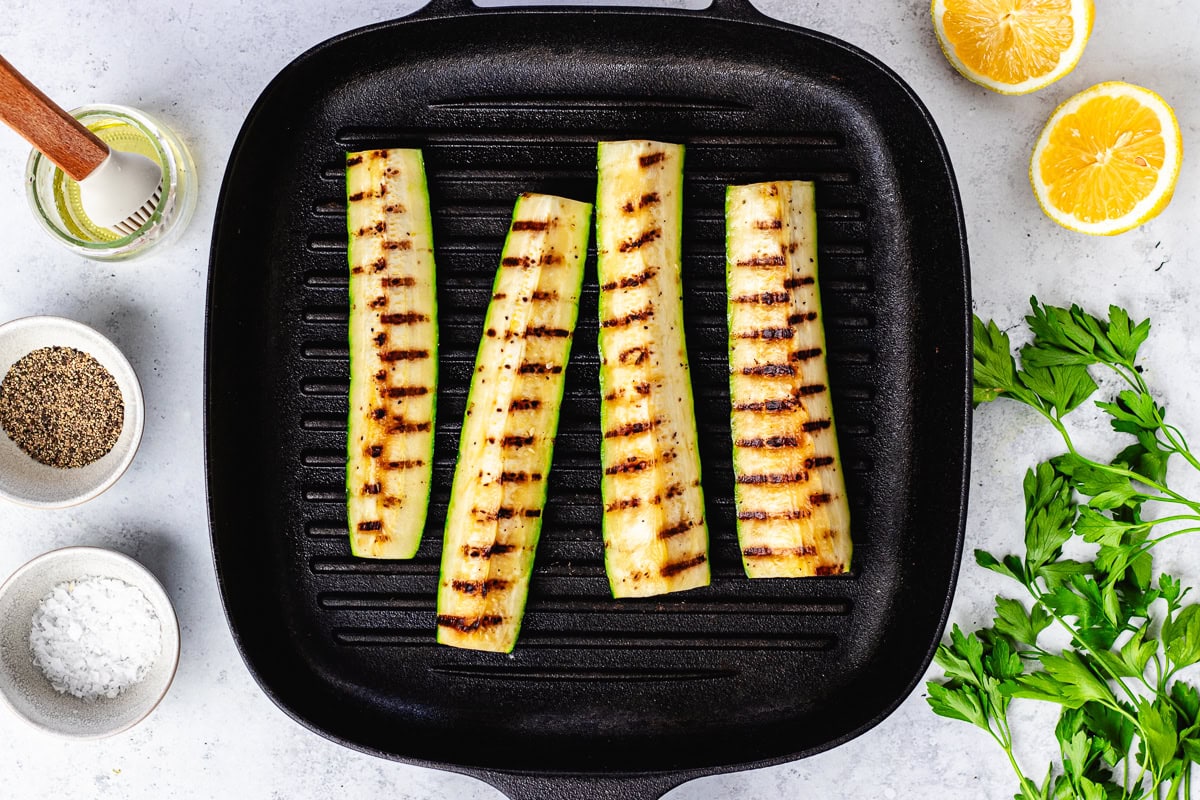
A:
[[[686,145],[684,318],[713,583],[612,600],[599,499],[594,248],[514,654],[434,643],[466,392],[516,194],[590,200],[595,143]],[[434,221],[434,489],[410,561],[349,555],[344,154],[419,146]],[[817,184],[848,576],[749,581],[730,463],[724,188]],[[744,0],[704,12],[439,0],[332,38],[266,88],[214,225],[205,457],[234,639],[288,715],[377,756],[520,798],[649,798],[799,758],[919,680],[958,575],[970,278],[936,126],[884,66]]]

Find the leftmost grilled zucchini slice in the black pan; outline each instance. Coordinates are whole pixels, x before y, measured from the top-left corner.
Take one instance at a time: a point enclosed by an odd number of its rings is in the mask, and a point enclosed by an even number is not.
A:
[[[350,551],[407,559],[425,529],[438,377],[437,290],[419,150],[347,154]]]

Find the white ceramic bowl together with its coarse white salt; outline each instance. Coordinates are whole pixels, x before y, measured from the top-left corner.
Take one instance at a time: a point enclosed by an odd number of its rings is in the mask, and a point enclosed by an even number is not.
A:
[[[178,664],[170,597],[128,555],[64,547],[0,584],[0,699],[41,730],[127,730],[167,694]]]

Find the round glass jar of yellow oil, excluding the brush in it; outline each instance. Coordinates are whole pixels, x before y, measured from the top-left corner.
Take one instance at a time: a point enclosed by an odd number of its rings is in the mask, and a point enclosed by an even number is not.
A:
[[[162,199],[150,218],[124,235],[91,222],[79,201],[79,185],[38,151],[25,168],[34,217],[73,252],[97,260],[122,260],[173,241],[196,210],[196,167],[184,143],[144,112],[125,106],[83,106],[71,114],[113,150],[145,156],[162,166]]]

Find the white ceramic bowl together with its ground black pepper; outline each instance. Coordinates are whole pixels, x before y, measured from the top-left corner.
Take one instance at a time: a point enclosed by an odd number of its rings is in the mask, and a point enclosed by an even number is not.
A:
[[[90,500],[128,469],[143,425],[137,374],[107,337],[62,317],[0,325],[0,498]]]

